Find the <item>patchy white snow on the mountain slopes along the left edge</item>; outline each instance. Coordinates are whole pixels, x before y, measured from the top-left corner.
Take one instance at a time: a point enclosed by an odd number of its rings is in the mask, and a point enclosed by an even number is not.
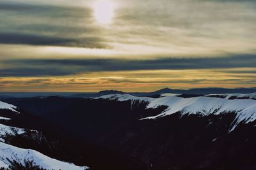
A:
[[[19,113],[17,107],[12,104],[3,103],[0,101],[0,113],[3,114],[6,110],[11,111],[11,114]],[[0,117],[0,120],[10,121],[11,118]],[[26,132],[38,132],[35,130],[24,129],[19,127],[11,127],[8,125],[0,124],[0,168],[10,168],[13,166],[13,162],[25,166],[26,163],[30,162],[33,166],[42,169],[61,169],[61,170],[84,170],[89,169],[86,166],[76,166],[71,163],[61,162],[60,160],[52,159],[46,155],[36,152],[35,150],[18,148],[16,146],[4,143],[6,137],[19,136]],[[12,168],[11,168],[12,169]]]

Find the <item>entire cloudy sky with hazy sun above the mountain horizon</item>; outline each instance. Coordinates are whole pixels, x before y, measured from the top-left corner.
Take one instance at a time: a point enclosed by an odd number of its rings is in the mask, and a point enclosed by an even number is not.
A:
[[[0,1],[0,91],[164,87],[256,87],[256,1]]]

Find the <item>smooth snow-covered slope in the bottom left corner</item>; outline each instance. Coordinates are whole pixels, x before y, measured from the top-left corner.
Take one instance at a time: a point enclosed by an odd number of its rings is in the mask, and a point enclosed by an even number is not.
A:
[[[80,167],[67,162],[61,162],[60,160],[52,159],[43,155],[35,150],[17,148],[12,145],[8,145],[0,142],[0,167],[10,166],[10,162],[7,160],[15,160],[21,164],[25,164],[26,161],[33,161],[33,164],[40,166],[44,169],[61,169],[61,170],[84,170],[88,167]]]

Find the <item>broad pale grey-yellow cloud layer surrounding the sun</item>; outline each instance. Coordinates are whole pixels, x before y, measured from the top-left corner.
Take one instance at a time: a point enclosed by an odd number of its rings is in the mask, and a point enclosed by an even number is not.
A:
[[[0,3],[0,22],[4,23],[0,25],[0,32],[36,36],[36,39],[43,38],[42,44],[54,37],[52,43],[46,43],[49,46],[110,46],[127,53],[202,55],[250,53],[256,48],[256,11],[247,2],[113,1],[116,3],[115,16],[109,26],[99,25],[95,20],[93,1],[80,6],[73,5],[77,1],[70,3],[67,0],[47,4],[36,2],[40,3]],[[59,42],[61,40],[64,42]],[[38,41],[29,41],[28,44],[37,45]]]

